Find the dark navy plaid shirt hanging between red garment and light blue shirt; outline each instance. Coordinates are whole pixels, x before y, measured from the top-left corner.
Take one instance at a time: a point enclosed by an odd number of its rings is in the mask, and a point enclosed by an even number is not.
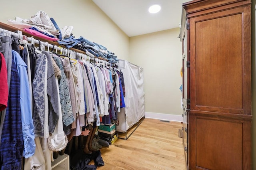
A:
[[[22,123],[20,111],[20,77],[17,65],[12,57],[12,69],[10,76],[10,92],[8,107],[3,123],[0,156],[1,169],[21,169],[21,157],[23,154]]]

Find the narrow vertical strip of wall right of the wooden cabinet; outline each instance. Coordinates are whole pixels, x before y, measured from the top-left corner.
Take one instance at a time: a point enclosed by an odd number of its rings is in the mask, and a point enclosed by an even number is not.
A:
[[[252,0],[252,169],[256,170],[256,0]]]

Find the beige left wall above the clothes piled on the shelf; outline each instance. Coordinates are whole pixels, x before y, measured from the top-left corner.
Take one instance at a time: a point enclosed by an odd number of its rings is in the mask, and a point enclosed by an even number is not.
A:
[[[129,38],[92,0],[4,0],[0,22],[16,16],[28,19],[39,10],[54,18],[60,28],[74,26],[73,35],[104,45],[119,59],[128,60]]]

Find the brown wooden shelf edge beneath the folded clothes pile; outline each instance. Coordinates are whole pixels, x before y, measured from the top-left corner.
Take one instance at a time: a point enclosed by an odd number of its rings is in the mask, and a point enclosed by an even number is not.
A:
[[[44,38],[40,38],[40,37],[37,37],[37,36],[34,36],[28,32],[25,32],[24,30],[20,29],[20,28],[17,28],[17,27],[14,27],[14,26],[11,26],[11,25],[8,25],[8,24],[5,24],[3,22],[0,22],[0,28],[3,28],[5,30],[8,30],[8,31],[11,31],[11,32],[15,32],[15,31],[21,31],[22,32],[22,35],[25,35],[27,37],[34,37],[34,39],[38,39],[40,41],[43,41],[43,42],[48,42],[49,44],[54,44],[54,45],[57,45],[57,46],[61,46],[63,48],[66,48],[64,45],[60,45],[58,42],[54,42],[54,41],[50,41],[50,40],[45,40]],[[78,53],[83,53],[85,54],[84,51],[80,50],[80,49],[75,49],[75,48],[70,48],[70,50],[72,51],[75,51],[75,52],[78,52]],[[98,58],[98,59],[101,59],[101,60],[105,60],[105,61],[108,61],[108,59],[104,59],[102,57],[95,57],[95,58]]]

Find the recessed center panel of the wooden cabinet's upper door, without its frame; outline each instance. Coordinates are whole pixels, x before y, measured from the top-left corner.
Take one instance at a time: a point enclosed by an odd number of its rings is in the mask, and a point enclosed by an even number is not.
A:
[[[241,22],[240,14],[196,22],[196,105],[242,109]]]

